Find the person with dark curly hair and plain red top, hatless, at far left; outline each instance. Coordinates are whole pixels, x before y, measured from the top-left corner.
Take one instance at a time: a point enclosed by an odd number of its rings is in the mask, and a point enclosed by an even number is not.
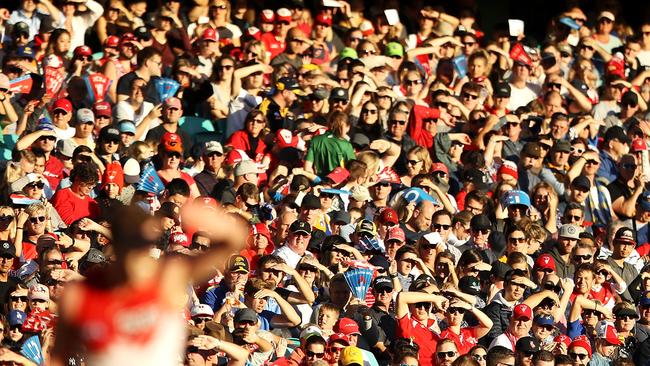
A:
[[[52,205],[67,225],[84,218],[99,216],[99,205],[90,197],[99,177],[90,163],[77,165],[70,173],[72,185],[60,189],[52,197]]]

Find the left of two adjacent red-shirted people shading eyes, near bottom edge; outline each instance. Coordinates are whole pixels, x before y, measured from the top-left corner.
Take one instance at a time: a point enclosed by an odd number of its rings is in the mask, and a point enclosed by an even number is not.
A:
[[[424,290],[427,290],[425,288]],[[441,310],[447,307],[442,295],[427,292],[400,292],[397,296],[397,337],[411,338],[420,346],[420,364],[432,365],[440,328],[431,310],[432,303]]]

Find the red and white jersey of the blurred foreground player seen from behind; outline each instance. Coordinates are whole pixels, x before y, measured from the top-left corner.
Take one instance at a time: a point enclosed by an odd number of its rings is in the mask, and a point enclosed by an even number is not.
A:
[[[82,287],[80,329],[88,365],[178,365],[185,324],[160,299],[157,283],[142,289]]]

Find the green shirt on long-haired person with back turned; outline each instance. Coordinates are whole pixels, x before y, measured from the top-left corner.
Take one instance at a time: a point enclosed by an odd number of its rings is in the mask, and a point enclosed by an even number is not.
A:
[[[354,159],[354,149],[349,141],[326,132],[311,140],[306,159],[314,164],[314,172],[317,175],[327,174]]]

